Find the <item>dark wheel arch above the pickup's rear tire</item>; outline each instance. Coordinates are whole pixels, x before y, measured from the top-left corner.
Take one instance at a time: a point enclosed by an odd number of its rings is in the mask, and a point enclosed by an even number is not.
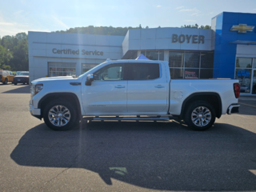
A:
[[[190,104],[190,102],[194,102],[197,100],[209,102],[214,107],[216,117],[220,118],[222,116],[222,99],[219,94],[215,92],[200,92],[190,94],[190,96],[188,96],[184,100],[184,102],[182,103],[180,118],[184,118],[186,107]]]

